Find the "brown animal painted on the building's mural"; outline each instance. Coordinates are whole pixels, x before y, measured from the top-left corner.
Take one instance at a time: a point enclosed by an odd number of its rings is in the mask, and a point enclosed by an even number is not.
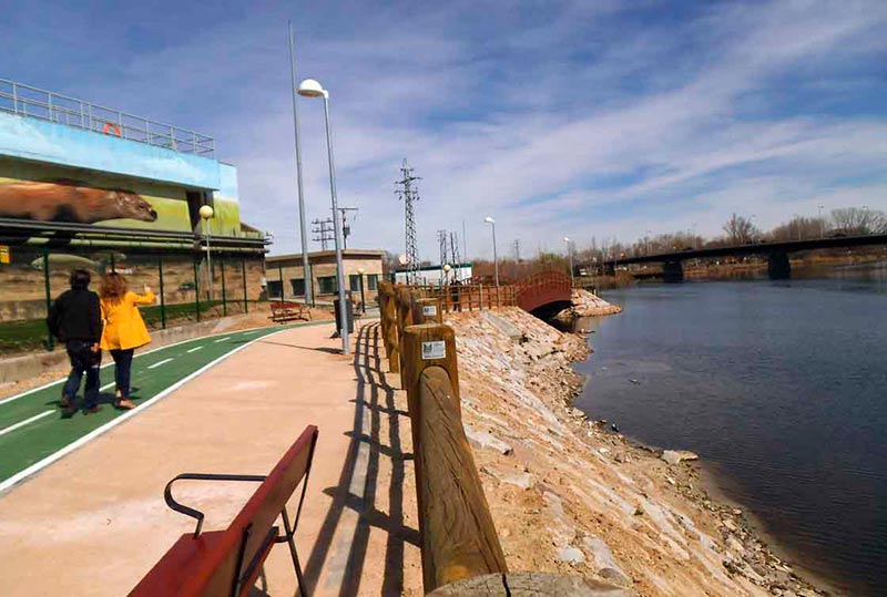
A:
[[[94,224],[130,218],[156,222],[157,213],[131,191],[69,183],[0,183],[0,217]]]

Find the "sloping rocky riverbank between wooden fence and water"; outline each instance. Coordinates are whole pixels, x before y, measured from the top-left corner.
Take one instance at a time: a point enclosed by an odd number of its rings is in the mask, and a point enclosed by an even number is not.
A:
[[[741,509],[710,497],[693,454],[634,445],[571,406],[582,384],[571,363],[589,352],[581,338],[517,308],[448,323],[466,432],[512,570],[579,574],[651,597],[825,595]]]

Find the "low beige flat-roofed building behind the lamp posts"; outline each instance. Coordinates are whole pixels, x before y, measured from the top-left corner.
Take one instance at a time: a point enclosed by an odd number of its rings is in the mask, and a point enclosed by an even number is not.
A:
[[[376,301],[378,284],[381,280],[381,259],[384,250],[344,249],[341,261],[345,274],[345,289],[353,299],[360,300],[360,276],[363,269],[364,295],[367,305]],[[336,285],[336,251],[319,250],[308,254],[312,270],[314,296],[320,301],[332,302],[338,294]],[[305,272],[302,268],[302,254],[275,255],[265,258],[268,298],[304,299]]]

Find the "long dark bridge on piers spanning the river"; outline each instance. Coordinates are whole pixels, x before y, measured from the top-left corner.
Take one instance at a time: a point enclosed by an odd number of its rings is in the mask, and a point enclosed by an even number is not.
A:
[[[761,255],[767,257],[767,274],[772,280],[786,280],[792,277],[792,265],[788,256],[792,253],[815,249],[838,249],[850,247],[865,247],[873,245],[887,245],[887,234],[865,236],[842,236],[833,238],[817,238],[813,240],[788,240],[783,243],[750,243],[746,245],[730,245],[725,247],[705,247],[660,253],[656,255],[642,255],[624,257],[604,261],[604,274],[614,275],[618,266],[632,264],[662,264],[662,278],[666,282],[680,282],[684,279],[683,263],[687,259],[704,259],[714,257],[743,257]],[[591,264],[578,265],[577,268],[589,268]]]

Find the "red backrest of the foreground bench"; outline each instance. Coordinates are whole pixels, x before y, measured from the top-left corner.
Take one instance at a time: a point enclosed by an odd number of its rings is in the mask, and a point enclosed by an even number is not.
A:
[[[308,473],[316,441],[317,428],[308,425],[231,523],[224,539],[207,554],[201,569],[183,586],[182,595],[230,595],[235,578],[239,584],[236,594],[248,593],[277,537],[274,522]],[[294,521],[298,521],[298,513]],[[248,536],[244,545],[245,533]],[[238,563],[243,564],[236,569]],[[256,563],[252,570],[251,563]]]

